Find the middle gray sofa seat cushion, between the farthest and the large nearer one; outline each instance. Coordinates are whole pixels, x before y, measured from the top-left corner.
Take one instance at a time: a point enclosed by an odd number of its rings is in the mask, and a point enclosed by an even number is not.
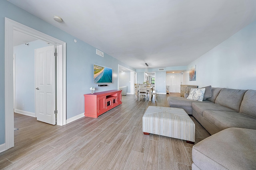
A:
[[[228,107],[221,106],[219,104],[214,103],[192,103],[192,108],[203,116],[203,112],[205,110],[216,110],[216,111],[231,111],[236,112],[233,109],[230,109]]]

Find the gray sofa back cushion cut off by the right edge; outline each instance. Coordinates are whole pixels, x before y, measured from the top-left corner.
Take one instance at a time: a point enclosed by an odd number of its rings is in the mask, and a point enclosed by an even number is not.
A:
[[[256,90],[248,90],[240,107],[240,113],[256,118]]]

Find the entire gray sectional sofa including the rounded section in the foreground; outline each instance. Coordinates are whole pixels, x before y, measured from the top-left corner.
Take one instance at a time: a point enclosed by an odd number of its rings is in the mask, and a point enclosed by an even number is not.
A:
[[[255,169],[256,90],[205,88],[202,102],[167,98],[170,107],[183,108],[212,135],[193,146],[192,170]]]

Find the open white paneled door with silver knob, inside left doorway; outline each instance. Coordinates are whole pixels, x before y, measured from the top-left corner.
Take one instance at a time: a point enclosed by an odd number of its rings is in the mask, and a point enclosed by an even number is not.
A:
[[[35,49],[36,118],[56,124],[56,47]]]

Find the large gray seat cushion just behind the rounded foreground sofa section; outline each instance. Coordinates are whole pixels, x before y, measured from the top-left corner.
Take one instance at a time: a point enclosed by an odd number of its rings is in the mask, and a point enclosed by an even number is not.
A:
[[[242,113],[205,110],[203,116],[220,131],[229,127],[256,129],[256,119]]]

